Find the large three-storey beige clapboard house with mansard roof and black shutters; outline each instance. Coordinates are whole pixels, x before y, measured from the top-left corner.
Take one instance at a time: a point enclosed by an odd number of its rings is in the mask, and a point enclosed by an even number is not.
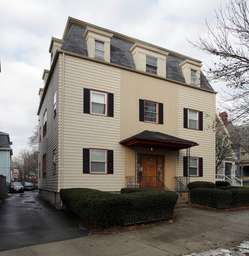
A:
[[[41,197],[60,208],[61,188],[215,182],[216,92],[199,60],[70,17],[49,52],[39,89]]]

